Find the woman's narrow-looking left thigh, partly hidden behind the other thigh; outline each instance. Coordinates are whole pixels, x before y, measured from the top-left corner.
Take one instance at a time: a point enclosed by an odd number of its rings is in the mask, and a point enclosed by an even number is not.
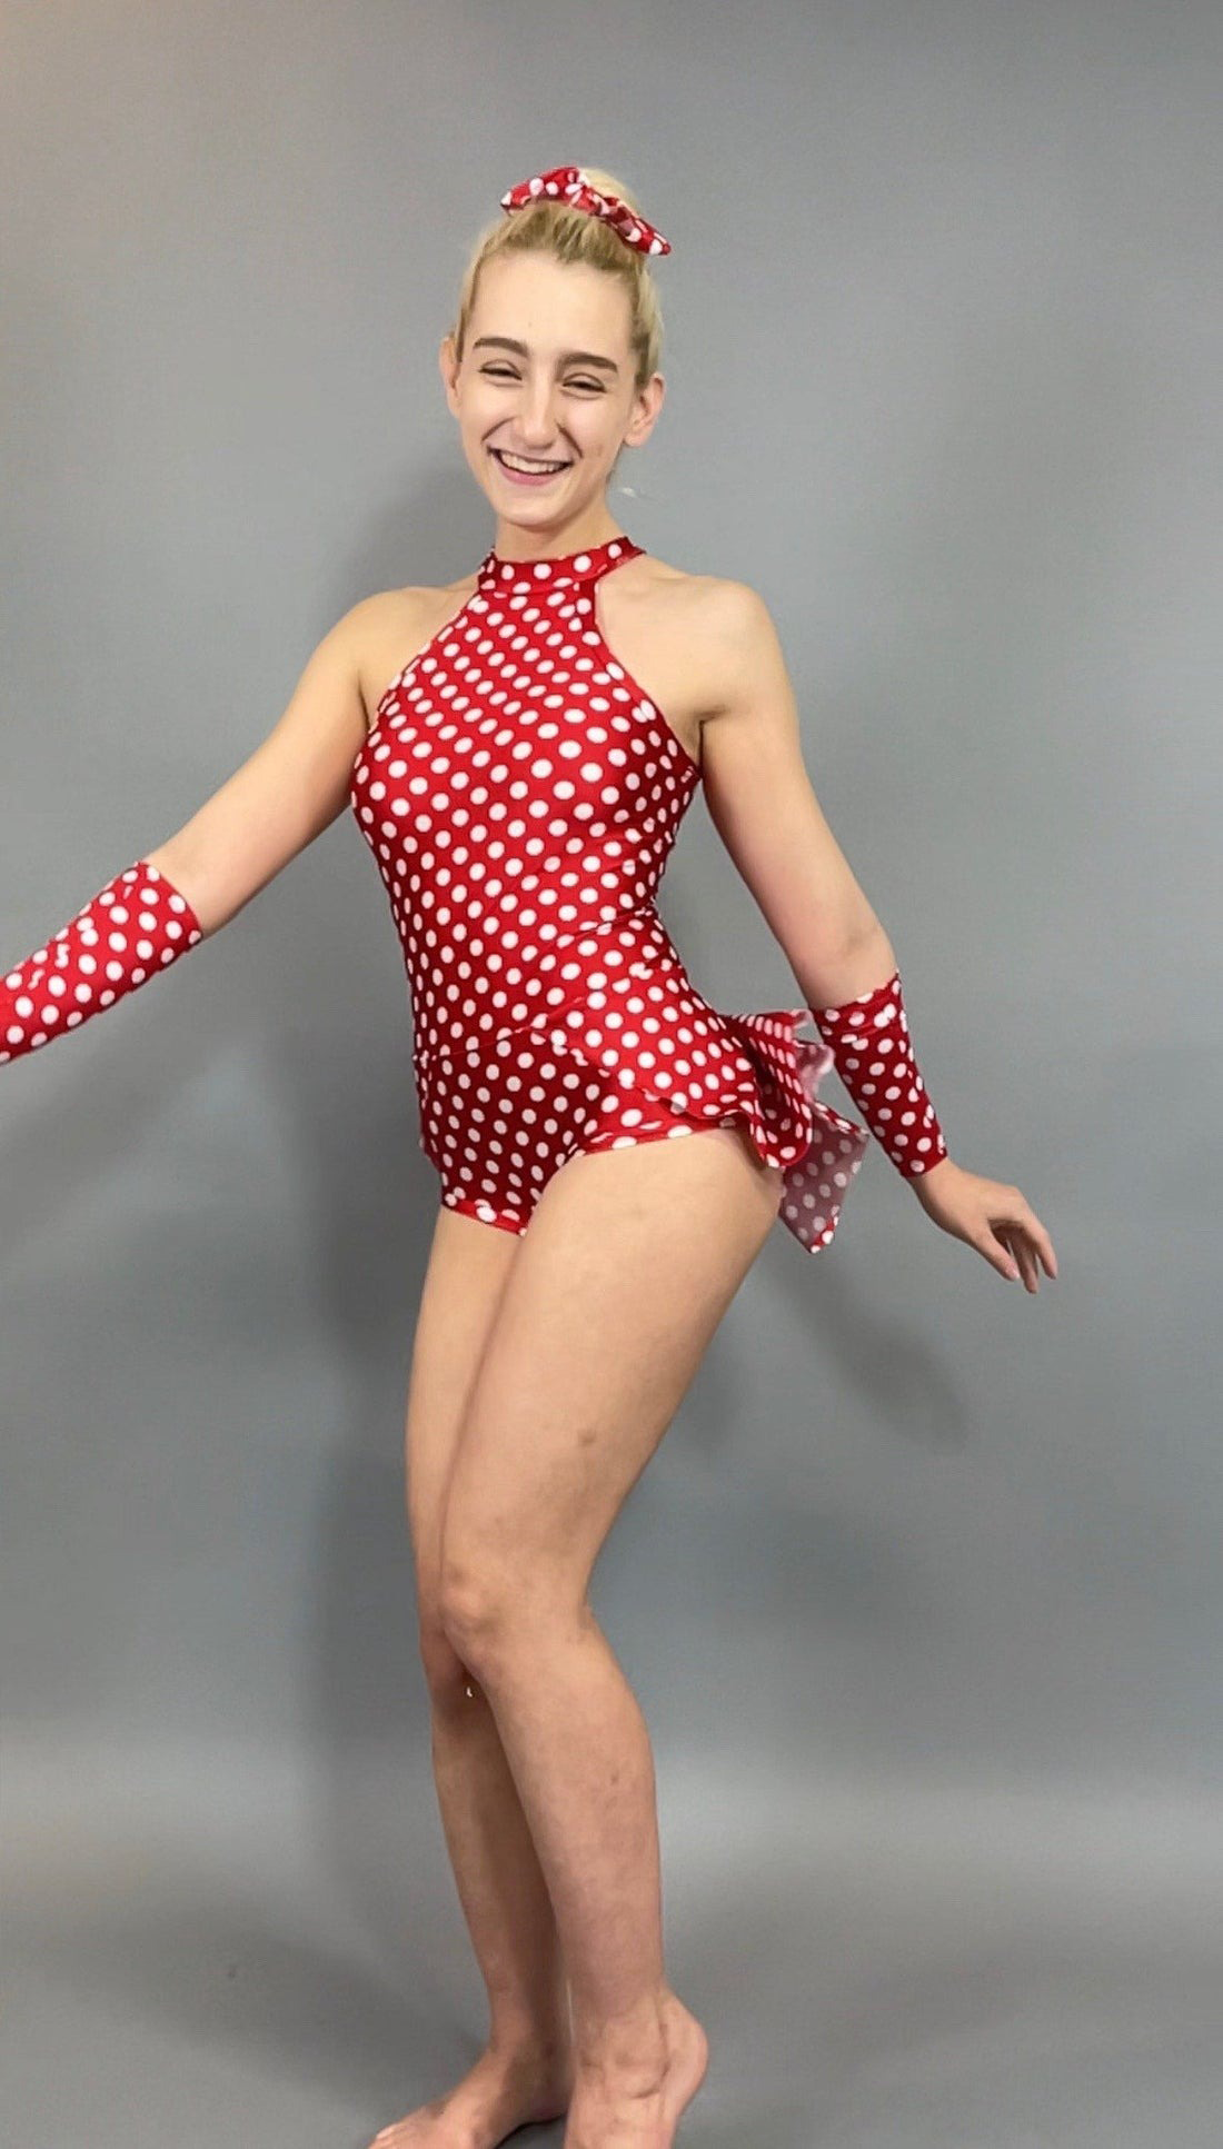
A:
[[[408,1369],[404,1489],[421,1638],[436,1629],[441,1517],[479,1358],[522,1240],[438,1208]]]

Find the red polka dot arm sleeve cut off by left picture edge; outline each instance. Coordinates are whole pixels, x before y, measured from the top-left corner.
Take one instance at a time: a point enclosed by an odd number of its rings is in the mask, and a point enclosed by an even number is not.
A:
[[[80,1029],[202,937],[187,896],[138,857],[0,980],[0,1066]]]

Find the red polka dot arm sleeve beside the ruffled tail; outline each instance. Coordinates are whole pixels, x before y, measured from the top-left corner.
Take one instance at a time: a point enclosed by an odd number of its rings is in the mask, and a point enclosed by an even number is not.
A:
[[[840,1008],[812,1008],[836,1072],[896,1171],[911,1180],[948,1154],[935,1107],[918,1074],[901,971]]]

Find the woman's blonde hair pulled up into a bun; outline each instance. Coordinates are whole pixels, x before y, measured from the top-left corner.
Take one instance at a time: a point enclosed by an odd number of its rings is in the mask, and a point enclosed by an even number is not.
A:
[[[602,172],[593,163],[582,165],[582,172],[600,193],[617,193],[636,215],[643,215],[636,196],[613,172]],[[449,331],[460,363],[475,307],[479,271],[499,254],[550,254],[552,260],[585,262],[591,269],[604,269],[606,275],[619,277],[630,299],[628,342],[634,359],[634,389],[643,389],[649,376],[658,372],[662,357],[662,305],[658,303],[649,256],[625,245],[604,217],[591,215],[589,208],[574,208],[570,202],[546,193],[529,202],[527,208],[512,211],[512,215],[501,211],[497,221],[486,223],[475,241],[462,273],[458,314]]]

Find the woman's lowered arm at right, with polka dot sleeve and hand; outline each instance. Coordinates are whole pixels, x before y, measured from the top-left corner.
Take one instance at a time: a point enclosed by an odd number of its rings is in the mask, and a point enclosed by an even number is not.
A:
[[[785,948],[836,1072],[926,1216],[1034,1294],[1040,1261],[1057,1274],[1053,1244],[1017,1186],[948,1156],[896,954],[812,791],[763,597],[746,582],[711,582],[701,643],[716,681],[701,726],[709,819]]]

